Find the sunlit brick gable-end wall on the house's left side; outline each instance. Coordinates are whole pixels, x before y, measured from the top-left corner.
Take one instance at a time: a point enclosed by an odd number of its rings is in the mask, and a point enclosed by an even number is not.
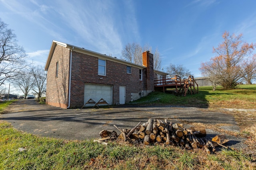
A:
[[[68,106],[69,49],[56,45],[47,71],[46,104],[66,108]],[[58,62],[58,78],[56,63]]]

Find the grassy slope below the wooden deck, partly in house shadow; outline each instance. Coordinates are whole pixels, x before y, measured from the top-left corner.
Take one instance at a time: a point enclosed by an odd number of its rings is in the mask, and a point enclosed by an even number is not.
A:
[[[256,109],[256,85],[239,85],[232,90],[218,86],[215,91],[211,86],[202,86],[198,88],[198,94],[187,94],[186,97],[152,92],[130,104]]]

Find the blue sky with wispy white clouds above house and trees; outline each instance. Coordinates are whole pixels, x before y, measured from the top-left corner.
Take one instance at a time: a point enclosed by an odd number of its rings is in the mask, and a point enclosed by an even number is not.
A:
[[[158,48],[162,68],[183,64],[195,77],[224,31],[256,43],[255,0],[0,0],[29,61],[45,65],[52,40],[121,57],[127,43]]]

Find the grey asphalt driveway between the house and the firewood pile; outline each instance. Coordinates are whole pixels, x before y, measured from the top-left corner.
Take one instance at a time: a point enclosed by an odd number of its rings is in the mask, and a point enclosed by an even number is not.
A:
[[[40,105],[33,99],[19,100],[7,107],[0,115],[1,120],[12,123],[14,128],[40,135],[70,140],[85,140],[99,138],[103,129],[119,131],[131,129],[140,121],[145,123],[148,118],[165,119],[173,122],[182,120],[207,124],[225,124],[221,127],[229,131],[239,131],[232,115],[211,112],[208,109],[196,107],[122,106],[100,109],[60,109],[48,105]],[[215,136],[218,132],[206,129],[206,133]],[[240,143],[241,139],[230,136],[232,145]]]

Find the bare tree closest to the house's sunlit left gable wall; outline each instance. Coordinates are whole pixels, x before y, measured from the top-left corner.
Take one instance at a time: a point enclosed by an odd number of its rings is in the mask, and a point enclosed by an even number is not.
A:
[[[38,94],[38,100],[42,97],[42,93],[46,89],[46,76],[47,73],[44,71],[44,68],[42,66],[34,66],[32,67],[32,74],[35,79],[35,88],[34,92]]]

